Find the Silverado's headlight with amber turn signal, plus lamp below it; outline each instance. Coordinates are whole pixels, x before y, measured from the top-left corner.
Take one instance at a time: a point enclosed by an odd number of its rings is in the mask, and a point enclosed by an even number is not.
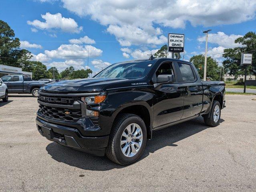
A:
[[[98,104],[103,102],[106,99],[106,95],[98,95],[98,96],[88,96],[88,97],[82,97],[81,100],[86,104]],[[99,116],[99,112],[85,109],[86,116]]]

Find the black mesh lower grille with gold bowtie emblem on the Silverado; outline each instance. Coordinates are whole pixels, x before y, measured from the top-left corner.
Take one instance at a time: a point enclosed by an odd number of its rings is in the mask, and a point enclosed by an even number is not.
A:
[[[82,117],[81,109],[50,107],[42,104],[39,105],[38,112],[56,120],[77,121]]]

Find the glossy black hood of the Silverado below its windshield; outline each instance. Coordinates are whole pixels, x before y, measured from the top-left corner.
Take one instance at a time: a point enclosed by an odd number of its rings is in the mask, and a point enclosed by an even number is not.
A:
[[[101,92],[110,84],[130,82],[126,78],[87,78],[65,80],[46,84],[40,90],[42,92]]]

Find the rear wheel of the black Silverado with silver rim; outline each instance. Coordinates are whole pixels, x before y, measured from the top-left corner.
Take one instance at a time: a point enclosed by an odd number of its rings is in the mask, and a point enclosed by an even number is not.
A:
[[[209,114],[206,114],[203,117],[204,123],[208,126],[215,127],[220,124],[220,103],[214,100]]]

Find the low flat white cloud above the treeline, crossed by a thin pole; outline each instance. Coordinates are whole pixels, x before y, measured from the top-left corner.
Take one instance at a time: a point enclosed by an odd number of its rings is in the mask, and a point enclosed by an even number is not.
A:
[[[49,58],[62,58],[62,59],[83,59],[87,58],[89,50],[89,57],[97,57],[101,56],[102,50],[97,49],[94,46],[86,45],[60,45],[56,50],[45,50],[44,54],[46,54]]]

